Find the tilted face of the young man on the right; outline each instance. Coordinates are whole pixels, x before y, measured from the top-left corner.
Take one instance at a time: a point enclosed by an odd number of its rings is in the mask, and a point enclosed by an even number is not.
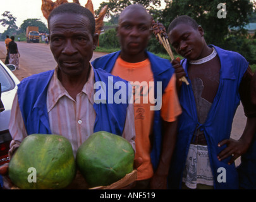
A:
[[[171,45],[180,56],[188,60],[197,60],[204,54],[204,30],[198,27],[196,30],[188,24],[181,23],[168,33]]]

